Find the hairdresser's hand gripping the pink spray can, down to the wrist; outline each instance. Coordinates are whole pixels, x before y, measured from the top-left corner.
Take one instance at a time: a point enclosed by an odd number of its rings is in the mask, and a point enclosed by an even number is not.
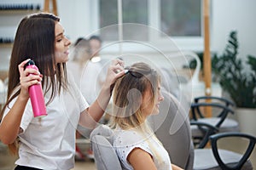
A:
[[[26,69],[24,70],[24,66],[30,59],[26,59],[25,61],[21,62],[19,67],[20,72],[20,97],[23,97],[24,99],[29,98],[28,94],[28,87],[30,87],[33,84],[38,84],[42,81],[42,75],[40,75],[39,71],[36,71],[34,69]],[[28,76],[31,74],[30,76]]]

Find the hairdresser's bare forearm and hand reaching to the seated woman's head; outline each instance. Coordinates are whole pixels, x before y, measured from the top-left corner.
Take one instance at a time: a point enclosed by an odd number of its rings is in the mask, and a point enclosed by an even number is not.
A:
[[[81,114],[79,120],[79,123],[81,125],[93,128],[96,125],[96,122],[101,119],[111,97],[111,86],[117,78],[125,74],[123,65],[124,61],[120,59],[115,59],[113,60],[112,65],[108,67],[106,81],[104,82],[102,90],[98,95],[96,101]]]

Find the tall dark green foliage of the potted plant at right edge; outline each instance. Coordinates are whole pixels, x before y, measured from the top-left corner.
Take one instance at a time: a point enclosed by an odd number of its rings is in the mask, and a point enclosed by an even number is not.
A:
[[[247,55],[244,65],[237,50],[237,33],[231,31],[224,54],[212,58],[212,72],[237,107],[256,108],[256,58]]]

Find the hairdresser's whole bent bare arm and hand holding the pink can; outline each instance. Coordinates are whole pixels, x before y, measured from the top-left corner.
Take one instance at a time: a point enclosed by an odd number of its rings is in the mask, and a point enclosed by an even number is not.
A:
[[[24,65],[28,61],[25,60],[19,65],[20,71],[20,94],[15,101],[15,104],[9,110],[8,114],[4,116],[0,125],[0,140],[3,144],[12,144],[20,132],[20,122],[23,112],[26,108],[26,103],[29,99],[28,87],[32,84],[41,82],[42,78],[38,71],[34,69],[26,69]],[[35,74],[34,76],[26,77],[29,73]]]

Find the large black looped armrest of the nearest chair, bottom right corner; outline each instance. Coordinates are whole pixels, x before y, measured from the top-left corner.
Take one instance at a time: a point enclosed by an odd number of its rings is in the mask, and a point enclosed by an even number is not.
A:
[[[233,167],[229,167],[229,166],[225,165],[224,161],[221,160],[221,157],[219,156],[219,153],[218,153],[217,141],[218,141],[218,139],[222,139],[222,138],[226,138],[226,137],[241,137],[243,139],[249,139],[249,144],[247,146],[247,150],[246,150],[245,154],[241,157],[241,160],[238,161],[238,163]],[[247,133],[237,133],[237,132],[217,133],[217,134],[211,135],[209,139],[211,140],[212,152],[213,152],[213,155],[214,155],[216,161],[218,161],[218,165],[222,169],[227,169],[227,170],[241,169],[241,167],[244,165],[244,163],[247,161],[247,159],[251,155],[253,148],[255,146],[255,143],[256,143],[256,138],[254,136],[247,134]]]

